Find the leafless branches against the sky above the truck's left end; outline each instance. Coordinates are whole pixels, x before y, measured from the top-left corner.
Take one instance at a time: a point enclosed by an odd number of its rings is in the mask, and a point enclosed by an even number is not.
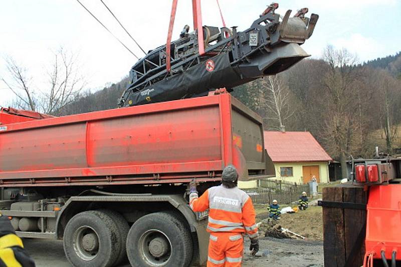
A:
[[[80,75],[78,56],[62,47],[54,53],[51,67],[46,68],[48,86],[45,85],[45,89],[35,91],[38,97],[29,86],[31,79],[27,78],[28,70],[11,57],[7,58],[6,62],[14,83],[7,83],[5,79],[3,81],[16,95],[14,103],[19,108],[59,115],[86,85],[83,76]]]

